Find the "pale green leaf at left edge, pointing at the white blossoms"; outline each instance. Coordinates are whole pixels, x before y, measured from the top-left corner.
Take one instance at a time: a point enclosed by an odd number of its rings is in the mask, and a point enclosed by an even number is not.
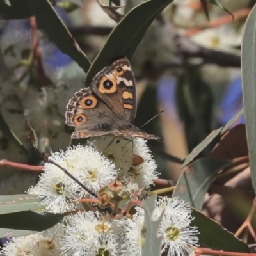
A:
[[[43,209],[38,204],[37,195],[8,195],[0,196],[0,214]]]

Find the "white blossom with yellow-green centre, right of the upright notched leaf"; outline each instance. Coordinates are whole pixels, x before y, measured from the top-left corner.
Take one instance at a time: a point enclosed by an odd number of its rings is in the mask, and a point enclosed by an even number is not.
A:
[[[191,227],[191,209],[179,198],[161,198],[156,203],[154,220],[157,220],[164,211],[159,225],[158,234],[163,237],[162,253],[168,250],[167,255],[186,256],[193,253],[191,247],[197,246],[198,230]]]

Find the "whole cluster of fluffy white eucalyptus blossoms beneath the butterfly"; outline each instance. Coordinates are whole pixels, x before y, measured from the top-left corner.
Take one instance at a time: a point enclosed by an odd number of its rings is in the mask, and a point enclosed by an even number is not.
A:
[[[100,137],[85,146],[53,153],[49,159],[92,193],[56,165],[46,163],[38,184],[28,193],[38,195],[46,212],[65,212],[66,216],[49,230],[10,239],[3,255],[142,255],[147,233],[144,210],[132,207],[136,202],[143,205],[157,178],[156,163],[145,141]],[[188,205],[177,198],[161,198],[151,221],[160,216],[158,232],[154,231],[161,237],[162,252],[177,256],[193,252],[198,231],[191,227]]]

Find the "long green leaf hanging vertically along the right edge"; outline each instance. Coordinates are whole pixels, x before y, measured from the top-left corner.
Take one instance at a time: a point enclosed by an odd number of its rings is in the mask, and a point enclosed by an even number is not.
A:
[[[246,20],[241,49],[244,115],[252,184],[256,191],[256,5]]]

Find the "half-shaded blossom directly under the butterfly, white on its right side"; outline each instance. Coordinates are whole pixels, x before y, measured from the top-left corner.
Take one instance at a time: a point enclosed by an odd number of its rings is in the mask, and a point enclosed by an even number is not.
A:
[[[118,180],[134,179],[134,183],[137,183],[140,189],[148,189],[153,184],[153,180],[157,179],[158,173],[156,172],[157,164],[152,158],[146,142],[141,138],[126,140],[113,136],[102,136],[91,139],[89,144],[115,163],[118,169]],[[143,163],[134,166],[134,155],[142,157]]]

